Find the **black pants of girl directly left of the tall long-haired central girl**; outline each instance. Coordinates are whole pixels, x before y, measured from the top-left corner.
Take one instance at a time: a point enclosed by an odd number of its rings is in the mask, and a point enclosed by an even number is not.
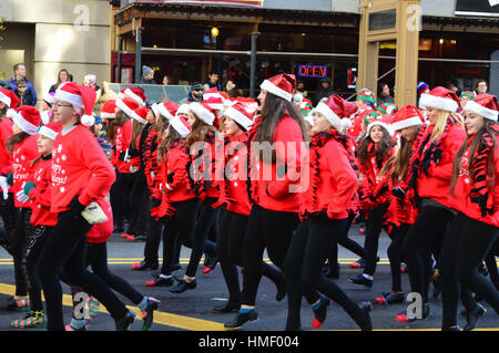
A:
[[[216,240],[216,255],[218,257],[222,274],[228,290],[228,301],[241,303],[240,277],[237,266],[243,266],[243,247],[249,217],[223,211],[218,239]],[[284,283],[284,274],[275,267],[263,261],[262,273],[276,284]]]

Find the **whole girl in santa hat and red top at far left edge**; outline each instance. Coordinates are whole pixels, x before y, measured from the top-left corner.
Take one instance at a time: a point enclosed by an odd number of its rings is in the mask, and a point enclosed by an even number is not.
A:
[[[12,154],[12,165],[3,168],[0,183],[11,179],[10,193],[14,195],[17,208],[16,229],[12,237],[11,251],[14,261],[16,295],[3,305],[4,310],[28,305],[28,283],[23,271],[24,249],[28,235],[32,232],[30,224],[31,201],[19,199],[16,195],[22,191],[29,176],[33,173],[31,162],[39,156],[37,129],[40,125],[40,112],[33,106],[21,106],[13,116],[12,132],[6,143],[7,150]],[[6,191],[6,186],[2,186]]]

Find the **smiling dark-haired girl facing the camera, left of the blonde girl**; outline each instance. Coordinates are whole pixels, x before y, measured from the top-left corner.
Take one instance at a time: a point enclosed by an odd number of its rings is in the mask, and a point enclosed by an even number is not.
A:
[[[366,215],[366,239],[364,243],[364,273],[348,278],[355,284],[373,287],[373,276],[376,271],[379,233],[383,229],[384,216],[388,209],[389,198],[378,187],[383,180],[381,170],[394,154],[395,143],[389,124],[383,120],[371,122],[367,127],[366,137],[357,148],[360,181],[360,206]]]

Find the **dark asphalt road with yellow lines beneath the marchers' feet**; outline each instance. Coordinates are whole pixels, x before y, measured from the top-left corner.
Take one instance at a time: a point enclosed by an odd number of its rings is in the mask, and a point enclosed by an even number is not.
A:
[[[364,245],[364,236],[358,232],[358,227],[353,226],[350,238]],[[350,269],[348,263],[356,260],[356,256],[348,250],[339,247],[340,258],[340,277],[335,280],[336,283],[355,301],[373,302],[371,321],[375,330],[438,330],[441,321],[441,297],[431,299],[431,314],[428,319],[417,321],[411,324],[404,324],[395,320],[395,315],[406,309],[407,304],[379,305],[374,299],[384,291],[390,290],[391,279],[388,266],[386,249],[389,245],[388,237],[383,233],[379,241],[378,256],[381,258],[375,274],[375,282],[371,289],[358,287],[347,282],[347,277],[360,273],[361,270]],[[154,316],[154,325],[151,331],[186,331],[186,330],[224,330],[223,323],[231,321],[234,313],[217,314],[212,311],[213,307],[223,300],[226,300],[227,292],[222,277],[220,266],[210,274],[202,274],[203,263],[201,263],[197,272],[197,288],[189,290],[181,294],[171,293],[167,288],[147,288],[145,281],[152,279],[149,271],[133,271],[131,263],[142,259],[144,242],[131,242],[122,239],[118,233],[113,235],[108,243],[110,269],[126,279],[139,291],[146,295],[152,295],[161,300],[160,313]],[[161,255],[161,250],[160,250]],[[183,248],[181,253],[181,263],[183,269],[189,261],[190,249]],[[160,256],[161,257],[161,256]],[[182,276],[179,271],[176,276]],[[0,249],[0,300],[13,293],[13,266],[10,256],[3,249]],[[408,276],[403,274],[403,289],[407,293],[409,290]],[[430,288],[432,291],[432,287]],[[68,285],[63,284],[65,294],[70,294]],[[244,331],[281,331],[285,326],[287,302],[286,299],[275,301],[276,288],[266,278],[262,279],[257,294],[257,309],[259,312],[258,320],[246,323],[241,330]],[[133,307],[132,303],[121,297],[125,304]],[[64,298],[64,313],[67,322],[71,319],[72,308],[70,307],[70,298]],[[496,312],[488,305],[486,315],[479,320],[479,330],[499,331],[499,318]],[[462,308],[459,307],[459,310]],[[92,321],[89,326],[90,331],[111,331],[114,330],[114,321],[103,311]],[[0,331],[19,331],[10,326],[10,322],[20,319],[23,312],[0,312]],[[312,326],[313,313],[306,301],[302,307],[302,325],[304,330],[314,330]],[[465,325],[465,319],[459,316],[459,324]],[[132,326],[133,331],[140,331],[142,321],[136,320]],[[24,329],[26,330],[26,329]],[[30,329],[40,331],[43,329]],[[327,320],[320,328],[320,331],[327,330],[357,330],[356,324],[347,316],[343,309],[333,303],[327,312]]]

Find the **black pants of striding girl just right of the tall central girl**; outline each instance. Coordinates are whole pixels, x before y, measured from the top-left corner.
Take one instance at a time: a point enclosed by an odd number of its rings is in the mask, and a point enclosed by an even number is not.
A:
[[[320,273],[330,247],[337,242],[346,222],[346,219],[307,219],[298,226],[284,267],[288,288],[287,329],[301,326],[302,294],[313,304],[319,299],[317,291],[336,301],[356,322],[360,319],[357,304],[333,280]]]

